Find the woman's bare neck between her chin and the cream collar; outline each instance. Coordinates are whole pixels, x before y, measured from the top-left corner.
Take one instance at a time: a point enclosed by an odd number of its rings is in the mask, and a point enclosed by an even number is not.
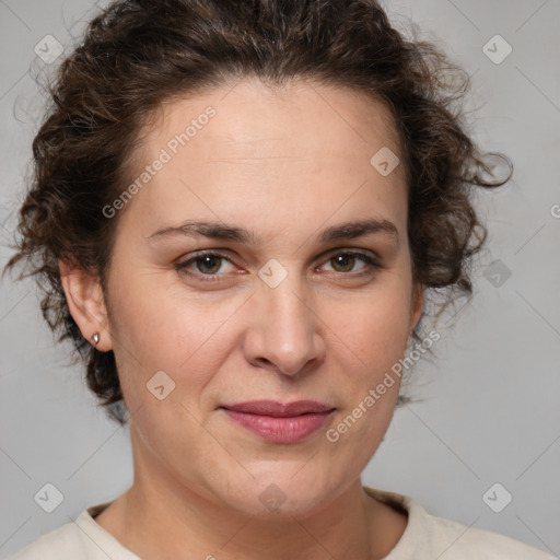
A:
[[[280,511],[259,516],[232,510],[141,459],[135,455],[132,487],[95,521],[142,559],[374,560],[388,555],[407,523],[368,495],[359,478],[305,517]]]

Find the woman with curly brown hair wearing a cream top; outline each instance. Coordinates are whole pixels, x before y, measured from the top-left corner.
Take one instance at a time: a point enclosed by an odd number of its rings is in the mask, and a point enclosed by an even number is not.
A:
[[[8,268],[38,258],[135,481],[15,559],[551,558],[360,481],[430,290],[470,293],[486,236],[447,65],[365,0],[91,22]]]

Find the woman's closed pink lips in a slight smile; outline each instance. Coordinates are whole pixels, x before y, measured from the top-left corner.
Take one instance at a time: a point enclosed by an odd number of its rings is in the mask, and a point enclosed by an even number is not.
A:
[[[315,400],[283,405],[273,400],[253,400],[221,407],[246,430],[275,443],[294,443],[316,432],[334,411]]]

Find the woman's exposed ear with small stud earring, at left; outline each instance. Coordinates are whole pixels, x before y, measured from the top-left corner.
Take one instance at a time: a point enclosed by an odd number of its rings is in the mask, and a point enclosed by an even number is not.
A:
[[[112,350],[107,308],[98,277],[63,260],[58,261],[58,267],[70,314],[82,335],[97,350]],[[92,339],[95,332],[100,335],[97,345]]]

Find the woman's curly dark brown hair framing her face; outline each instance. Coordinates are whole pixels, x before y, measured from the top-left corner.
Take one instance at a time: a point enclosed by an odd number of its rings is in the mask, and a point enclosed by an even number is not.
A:
[[[374,0],[113,2],[89,23],[48,88],[16,253],[3,273],[27,262],[19,279],[35,277],[44,318],[58,341],[72,341],[89,388],[120,424],[127,419],[114,352],[82,336],[59,260],[95,273],[106,295],[118,218],[102,209],[133,176],[131,147],[142,127],[164,102],[245,77],[270,85],[312,79],[381,101],[404,155],[412,278],[434,298],[444,294],[436,316],[472,294],[470,260],[487,237],[472,186],[508,179],[485,182],[491,172],[459,103],[468,74],[433,44],[405,38]]]

